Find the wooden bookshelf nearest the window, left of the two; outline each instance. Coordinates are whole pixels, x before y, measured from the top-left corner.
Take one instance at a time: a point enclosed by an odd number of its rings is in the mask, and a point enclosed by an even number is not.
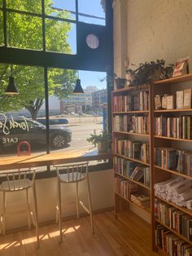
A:
[[[145,110],[129,110],[130,108],[122,108],[121,106],[119,106],[119,101],[117,102],[117,108],[113,107],[114,106],[114,102],[115,102],[115,97],[122,97],[123,96],[128,96],[129,97],[133,97],[132,95],[139,95],[139,90],[142,90],[143,93],[145,93],[145,90],[147,91],[147,95],[150,95],[150,87],[151,85],[147,84],[147,85],[141,85],[141,86],[133,86],[133,87],[129,87],[129,88],[124,88],[124,89],[120,89],[120,90],[115,90],[112,92],[112,116],[113,118],[116,117],[116,115],[127,115],[129,117],[133,117],[133,115],[135,115],[136,117],[138,116],[142,116],[142,117],[148,117],[149,118],[149,122],[150,122],[150,115],[151,115],[151,108],[150,108],[150,103],[147,101],[147,106],[148,108],[146,108],[146,98],[145,98],[145,103],[144,103],[144,96],[143,96],[143,108],[140,108],[140,104],[138,106],[138,108],[134,108],[131,107],[131,109],[145,109]],[[150,96],[149,96],[150,98]],[[148,99],[148,98],[147,98]],[[140,98],[139,98],[140,100]],[[144,105],[145,104],[145,105]],[[145,108],[144,108],[145,106]],[[119,110],[128,110],[128,111],[115,111],[119,108]],[[150,130],[150,123],[147,125],[148,126],[148,130]],[[119,129],[116,129],[119,130]],[[151,133],[147,133],[147,134],[142,134],[142,133],[136,133],[136,132],[130,132],[130,131],[121,131],[123,129],[120,129],[119,131],[116,131],[114,129],[114,121],[113,121],[113,142],[115,139],[125,139],[125,140],[132,140],[132,141],[141,141],[142,143],[147,143],[150,144],[150,136]],[[133,130],[133,129],[129,129],[129,130]],[[148,147],[147,147],[147,150]],[[114,155],[114,159],[115,157],[118,157],[120,159],[123,160],[127,160],[127,161],[132,161],[138,165],[142,166],[146,166],[144,168],[150,168],[150,173],[151,173],[151,163],[146,163],[143,162],[139,159],[135,159],[133,157],[128,157],[128,156],[124,156],[122,154],[118,154],[114,151],[113,153]],[[116,166],[114,166],[114,176],[115,177],[120,177],[124,180],[128,180],[131,183],[135,183],[137,184],[137,188],[138,188],[138,192],[141,194],[144,194],[146,196],[151,196],[151,187],[147,187],[144,183],[136,181],[134,179],[130,179],[128,176],[125,176],[123,174],[121,174],[120,172],[116,171]],[[151,176],[151,174],[150,174]],[[151,179],[150,179],[150,184],[151,184]],[[134,206],[134,207],[133,207]],[[133,210],[133,208],[137,209],[137,214],[135,212],[132,212],[130,209]],[[147,219],[150,220],[151,219],[151,207],[150,208],[142,208],[142,206],[135,204],[133,201],[128,200],[127,198],[124,198],[124,196],[120,195],[118,192],[115,192],[115,211],[116,211],[116,215],[119,216],[121,214],[121,212],[126,212],[127,217],[129,218],[130,216],[135,216],[135,218],[143,218],[143,222],[146,223],[146,221],[144,220],[146,217],[143,217],[143,214],[147,214]],[[132,214],[131,214],[132,213]],[[137,217],[137,215],[139,217]],[[146,216],[146,215],[145,215]],[[123,220],[121,219],[121,221],[124,222],[124,224],[126,225],[127,220],[126,218],[124,218]],[[149,225],[147,223],[147,225]],[[149,225],[150,227],[150,232],[151,232],[151,225]]]

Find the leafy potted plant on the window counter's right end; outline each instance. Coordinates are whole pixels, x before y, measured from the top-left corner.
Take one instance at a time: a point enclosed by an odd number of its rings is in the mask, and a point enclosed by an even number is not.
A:
[[[111,134],[107,130],[102,130],[99,135],[91,134],[87,141],[94,147],[98,145],[98,152],[107,152],[111,149]]]

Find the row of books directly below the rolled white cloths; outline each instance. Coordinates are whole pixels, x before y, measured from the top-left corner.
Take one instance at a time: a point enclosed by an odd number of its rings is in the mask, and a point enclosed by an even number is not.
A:
[[[155,218],[189,241],[192,240],[192,216],[155,198]]]

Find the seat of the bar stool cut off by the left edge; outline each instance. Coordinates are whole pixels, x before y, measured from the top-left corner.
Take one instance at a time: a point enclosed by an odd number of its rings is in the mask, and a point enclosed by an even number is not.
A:
[[[15,190],[23,190],[33,186],[33,183],[29,179],[4,181],[0,186],[1,191],[15,192]]]

